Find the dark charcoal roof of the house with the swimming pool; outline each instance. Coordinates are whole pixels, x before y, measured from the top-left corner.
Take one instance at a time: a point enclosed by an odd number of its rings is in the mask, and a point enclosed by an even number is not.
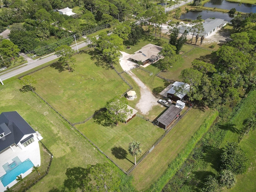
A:
[[[16,111],[2,112],[0,114],[0,125],[1,130],[10,130],[9,134],[4,131],[5,136],[0,139],[0,152],[12,144],[18,144],[24,135],[36,133]]]

